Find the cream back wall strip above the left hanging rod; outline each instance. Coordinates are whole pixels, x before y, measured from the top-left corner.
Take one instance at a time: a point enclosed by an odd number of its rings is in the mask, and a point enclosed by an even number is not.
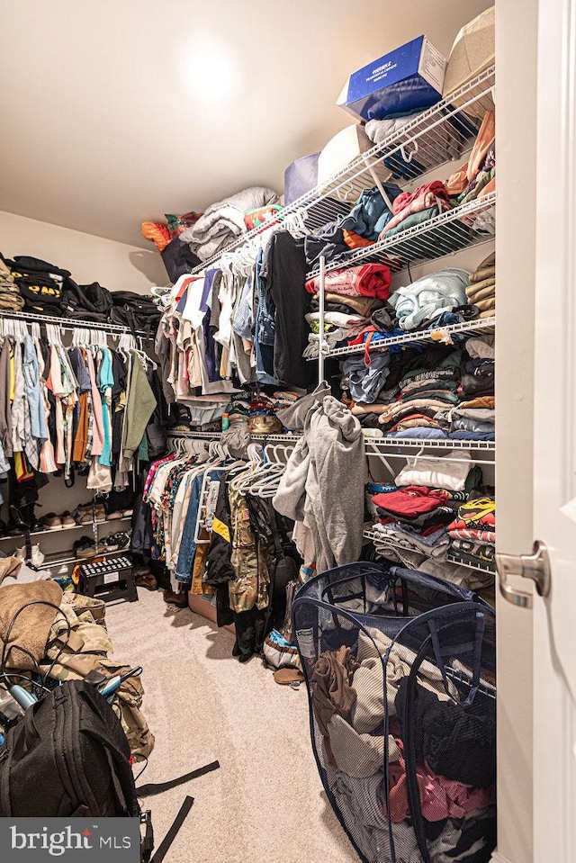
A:
[[[99,282],[111,291],[148,293],[151,284],[169,281],[152,245],[148,251],[11,212],[0,211],[0,251],[40,257],[69,270],[79,284]]]

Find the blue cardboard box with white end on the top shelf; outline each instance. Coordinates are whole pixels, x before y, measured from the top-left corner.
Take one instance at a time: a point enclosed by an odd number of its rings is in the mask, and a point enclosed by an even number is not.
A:
[[[424,111],[442,98],[446,58],[419,36],[351,75],[338,105],[358,120]]]

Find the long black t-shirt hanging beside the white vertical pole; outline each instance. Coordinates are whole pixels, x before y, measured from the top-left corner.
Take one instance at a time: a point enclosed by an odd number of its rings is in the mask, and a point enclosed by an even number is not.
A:
[[[311,299],[304,287],[306,271],[303,238],[295,239],[287,230],[275,233],[264,249],[260,278],[276,307],[275,378],[297,387],[307,387],[313,371],[313,364],[302,358],[310,333],[304,319]]]

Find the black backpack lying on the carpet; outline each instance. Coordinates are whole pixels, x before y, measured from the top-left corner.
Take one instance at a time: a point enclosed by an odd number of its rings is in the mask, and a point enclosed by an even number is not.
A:
[[[8,730],[0,749],[0,817],[139,814],[128,740],[91,684],[67,681]]]

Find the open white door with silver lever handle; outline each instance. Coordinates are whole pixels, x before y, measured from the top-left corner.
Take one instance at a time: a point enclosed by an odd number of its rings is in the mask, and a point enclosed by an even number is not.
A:
[[[540,0],[537,109],[534,859],[575,863],[576,0]]]

